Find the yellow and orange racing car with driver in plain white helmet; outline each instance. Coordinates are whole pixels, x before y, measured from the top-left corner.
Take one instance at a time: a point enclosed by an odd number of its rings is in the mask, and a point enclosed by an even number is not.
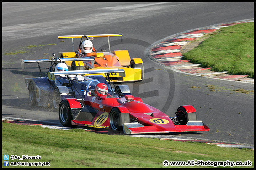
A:
[[[87,69],[124,69],[125,77],[119,75],[119,73],[112,73],[109,75],[114,82],[124,81],[142,81],[144,77],[144,67],[141,58],[130,58],[128,50],[110,50],[110,52],[97,52],[92,46],[91,40],[96,37],[107,37],[109,44],[109,37],[123,36],[122,34],[95,34],[95,35],[70,35],[70,36],[58,36],[58,39],[71,38],[73,44],[73,38],[81,38],[77,51],[74,52],[61,52],[60,58],[83,58],[92,57],[91,61],[69,61],[65,62],[71,70],[87,70]],[[103,75],[107,78],[106,74]]]

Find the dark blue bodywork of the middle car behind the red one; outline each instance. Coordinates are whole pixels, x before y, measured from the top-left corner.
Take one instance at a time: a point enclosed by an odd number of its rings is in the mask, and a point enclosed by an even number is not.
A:
[[[76,98],[82,101],[85,98],[87,85],[92,80],[97,81],[90,83],[91,87],[89,89],[94,90],[95,85],[101,82],[108,86],[108,93],[113,94],[111,86],[101,75],[79,76],[78,78],[75,75],[69,77],[57,76],[55,80],[50,80],[48,76],[26,78],[25,83],[29,90],[30,100],[34,105],[50,107],[54,105],[53,102],[56,98],[54,93],[59,95],[59,101],[63,98]],[[31,93],[33,94],[31,95]]]

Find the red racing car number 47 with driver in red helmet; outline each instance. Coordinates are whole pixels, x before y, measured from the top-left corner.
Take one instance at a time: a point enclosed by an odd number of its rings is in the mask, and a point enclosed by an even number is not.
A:
[[[69,72],[50,73],[53,76],[74,74]],[[111,128],[126,134],[210,131],[207,125],[197,120],[196,109],[191,105],[178,107],[176,116],[169,117],[143,103],[139,97],[110,95],[104,83],[97,83],[95,89],[90,89],[88,84],[82,103],[75,98],[66,98],[60,102],[59,119],[63,126]]]

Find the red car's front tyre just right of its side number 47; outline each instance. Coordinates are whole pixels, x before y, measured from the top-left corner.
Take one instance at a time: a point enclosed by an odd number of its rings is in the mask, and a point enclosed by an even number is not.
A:
[[[110,127],[113,130],[123,131],[123,124],[130,122],[129,113],[120,113],[117,108],[110,112]]]

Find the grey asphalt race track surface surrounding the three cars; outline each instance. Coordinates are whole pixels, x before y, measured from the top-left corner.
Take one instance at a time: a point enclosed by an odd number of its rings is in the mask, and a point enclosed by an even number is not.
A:
[[[134,96],[169,116],[178,106],[191,104],[210,132],[182,133],[181,137],[254,144],[254,96],[233,90],[254,90],[254,84],[197,77],[172,71],[152,60],[145,51],[166,37],[188,30],[254,18],[254,3],[2,3],[2,117],[59,123],[58,113],[32,107],[24,78],[39,77],[37,64],[21,69],[20,59],[49,58],[72,51],[71,41],[57,45],[58,35],[122,33],[111,38],[111,50],[127,49],[142,58],[142,82],[124,83]],[[74,40],[77,48],[79,40]],[[94,47],[108,50],[107,40],[93,40]],[[37,47],[27,48],[35,45]],[[16,55],[5,52],[28,51]],[[41,64],[47,72],[47,64]],[[211,91],[208,85],[215,86]],[[192,86],[201,88],[191,88]],[[179,134],[164,134],[179,136]]]

